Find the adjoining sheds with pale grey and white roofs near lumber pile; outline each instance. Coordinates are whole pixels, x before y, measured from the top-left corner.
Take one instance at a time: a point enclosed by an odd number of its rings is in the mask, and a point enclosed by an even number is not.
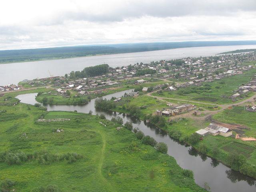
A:
[[[229,137],[232,135],[232,130],[217,124],[210,123],[210,125],[208,125],[206,128],[200,129],[196,131],[196,133],[199,134],[200,136],[206,136],[210,134],[213,136],[221,135],[224,137]]]

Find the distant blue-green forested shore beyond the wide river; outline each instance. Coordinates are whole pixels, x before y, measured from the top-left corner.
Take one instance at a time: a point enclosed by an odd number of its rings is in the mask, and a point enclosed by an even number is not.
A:
[[[70,47],[22,49],[22,50],[2,50],[0,51],[0,63],[51,60],[51,59],[60,59],[60,58],[92,56],[97,54],[144,52],[144,51],[166,50],[166,49],[185,48],[185,47],[252,45],[252,44],[256,44],[256,41],[156,42],[156,43],[70,46]]]

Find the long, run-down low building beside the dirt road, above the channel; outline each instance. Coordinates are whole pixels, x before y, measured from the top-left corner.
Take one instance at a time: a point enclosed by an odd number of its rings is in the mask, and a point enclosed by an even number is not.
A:
[[[176,107],[168,107],[168,108],[164,108],[161,110],[156,110],[156,115],[158,116],[176,116],[179,115],[183,112],[188,112],[191,110],[196,109],[196,106],[193,104],[182,104],[180,106],[176,106]]]

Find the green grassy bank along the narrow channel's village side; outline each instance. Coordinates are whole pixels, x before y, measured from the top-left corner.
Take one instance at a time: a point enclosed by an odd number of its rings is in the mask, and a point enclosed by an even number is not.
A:
[[[199,137],[194,137],[195,131],[207,127],[210,122],[212,122],[208,116],[195,116],[194,118],[190,118],[189,116],[186,118],[177,116],[169,121],[168,118],[164,118],[163,116],[150,116],[155,112],[156,108],[165,107],[166,103],[164,102],[156,102],[157,100],[145,98],[145,96],[123,99],[124,101],[117,103],[115,108],[109,110],[130,114],[145,122],[149,120],[154,126],[165,130],[170,137],[182,143],[189,144],[201,154],[212,157],[228,167],[240,171],[242,174],[256,178],[256,169],[253,166],[255,164],[256,155],[256,146],[254,143],[244,144],[242,140],[235,140],[234,137],[225,138],[219,135],[209,135],[204,137],[203,140],[199,140]],[[104,105],[99,106],[102,107]],[[221,110],[218,110],[216,112],[220,111]],[[252,117],[250,116],[250,118]],[[252,131],[246,132],[246,134],[250,134],[251,132]],[[232,151],[233,146],[236,146],[237,150]],[[228,148],[230,148],[230,150],[228,150]],[[238,149],[241,150],[241,152],[239,152]],[[230,158],[236,159],[238,162],[232,162]]]

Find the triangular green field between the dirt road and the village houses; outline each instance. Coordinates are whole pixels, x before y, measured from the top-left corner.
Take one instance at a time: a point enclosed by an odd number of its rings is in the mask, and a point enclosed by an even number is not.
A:
[[[193,100],[201,101],[212,104],[228,104],[232,103],[232,100],[228,97],[231,96],[233,90],[236,90],[242,84],[246,84],[254,77],[256,69],[252,69],[244,72],[244,74],[234,75],[231,77],[222,78],[220,80],[214,80],[213,82],[204,82],[202,85],[210,86],[210,90],[204,90],[198,93],[188,93],[181,94],[181,91],[190,92],[191,89],[196,88],[196,86],[188,86],[186,88],[180,88],[180,90],[175,90],[172,92],[164,91],[162,93],[153,93],[153,96],[160,96],[166,98],[179,98],[183,100]],[[248,94],[252,96],[252,93]]]

